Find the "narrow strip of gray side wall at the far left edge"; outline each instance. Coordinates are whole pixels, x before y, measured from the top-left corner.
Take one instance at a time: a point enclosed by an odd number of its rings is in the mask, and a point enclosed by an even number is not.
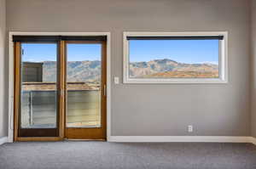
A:
[[[7,93],[6,85],[8,72],[6,71],[5,57],[5,0],[0,0],[0,138],[7,136]]]

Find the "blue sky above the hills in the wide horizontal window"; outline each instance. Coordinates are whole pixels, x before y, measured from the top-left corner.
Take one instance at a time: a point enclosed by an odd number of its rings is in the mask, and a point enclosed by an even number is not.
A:
[[[172,59],[218,64],[218,40],[130,40],[130,61]]]

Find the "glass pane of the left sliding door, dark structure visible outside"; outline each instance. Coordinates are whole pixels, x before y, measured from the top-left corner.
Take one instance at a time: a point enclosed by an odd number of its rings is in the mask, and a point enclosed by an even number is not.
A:
[[[21,43],[21,128],[55,128],[57,45]]]

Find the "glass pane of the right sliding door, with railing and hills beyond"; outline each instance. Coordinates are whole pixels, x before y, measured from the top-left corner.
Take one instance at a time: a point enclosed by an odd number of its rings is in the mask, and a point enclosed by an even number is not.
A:
[[[101,127],[102,45],[67,43],[67,127]]]

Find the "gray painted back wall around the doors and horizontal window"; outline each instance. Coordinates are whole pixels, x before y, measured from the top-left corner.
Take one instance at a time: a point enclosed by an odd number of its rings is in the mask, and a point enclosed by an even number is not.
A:
[[[111,31],[112,78],[122,78],[123,31],[229,31],[228,84],[112,83],[111,132],[116,136],[247,136],[249,8],[244,0],[9,0],[7,28]],[[191,134],[190,124],[195,127]]]

